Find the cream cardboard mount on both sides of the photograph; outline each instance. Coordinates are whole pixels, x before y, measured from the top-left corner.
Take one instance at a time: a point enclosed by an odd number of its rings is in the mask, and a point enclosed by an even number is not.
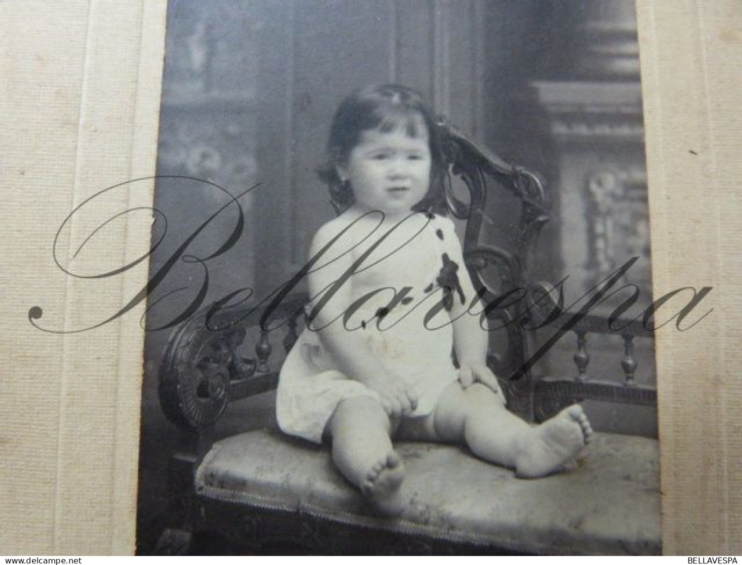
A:
[[[742,5],[639,0],[638,16],[655,295],[715,287],[708,320],[658,336],[664,547],[741,553],[742,429],[733,419],[742,411]],[[8,554],[134,551],[142,305],[66,335],[42,334],[27,312],[44,305],[45,323],[56,315],[79,327],[145,282],[139,265],[91,287],[59,271],[50,248],[69,211],[111,179],[153,174],[164,27],[164,0],[0,2],[0,547]],[[115,204],[150,205],[151,183]],[[94,227],[72,223],[63,264]],[[105,232],[105,260],[138,257],[148,235],[142,215],[117,223]]]

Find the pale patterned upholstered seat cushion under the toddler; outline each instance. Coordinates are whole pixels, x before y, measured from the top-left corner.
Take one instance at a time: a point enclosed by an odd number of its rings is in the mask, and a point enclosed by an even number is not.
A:
[[[196,476],[209,499],[528,552],[660,553],[656,440],[597,434],[569,472],[519,480],[463,449],[399,443],[407,501],[375,516],[326,448],[263,430],[222,440]]]

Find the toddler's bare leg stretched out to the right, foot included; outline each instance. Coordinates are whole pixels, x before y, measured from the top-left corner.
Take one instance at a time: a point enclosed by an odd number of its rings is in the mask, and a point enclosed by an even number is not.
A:
[[[463,440],[474,455],[511,467],[522,478],[558,471],[592,435],[580,406],[563,410],[541,426],[530,426],[480,384],[464,390],[453,383],[439,400],[434,425],[441,439]]]

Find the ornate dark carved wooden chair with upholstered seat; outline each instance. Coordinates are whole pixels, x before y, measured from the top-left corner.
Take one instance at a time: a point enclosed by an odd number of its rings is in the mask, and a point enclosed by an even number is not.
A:
[[[528,291],[528,300],[500,300],[489,314],[490,322],[506,324],[488,361],[502,378],[510,408],[543,420],[585,399],[654,403],[656,393],[633,378],[634,339],[649,332],[628,325],[615,337],[623,383],[585,379],[585,334],[613,333],[607,320],[587,315],[576,321],[551,300],[547,285],[531,284],[528,261],[548,220],[536,176],[447,132],[450,174],[463,182],[467,197],[456,196],[448,182],[441,205],[466,222],[464,255],[482,300],[490,304],[510,291]],[[519,202],[519,233],[510,249],[480,241],[487,199],[498,191]],[[162,552],[197,551],[203,532],[253,550],[267,544],[306,552],[660,552],[659,456],[657,441],[645,437],[598,433],[574,469],[531,481],[456,446],[400,443],[407,505],[395,519],[372,513],[335,471],[326,447],[272,426],[214,442],[228,403],[275,388],[305,301],[286,297],[270,311],[249,315],[244,307],[213,318],[203,311],[171,335],[159,390],[162,409],[182,430],[182,449],[170,467],[180,523],[161,538]],[[534,380],[525,364],[531,328],[546,326],[577,334],[577,377]]]

